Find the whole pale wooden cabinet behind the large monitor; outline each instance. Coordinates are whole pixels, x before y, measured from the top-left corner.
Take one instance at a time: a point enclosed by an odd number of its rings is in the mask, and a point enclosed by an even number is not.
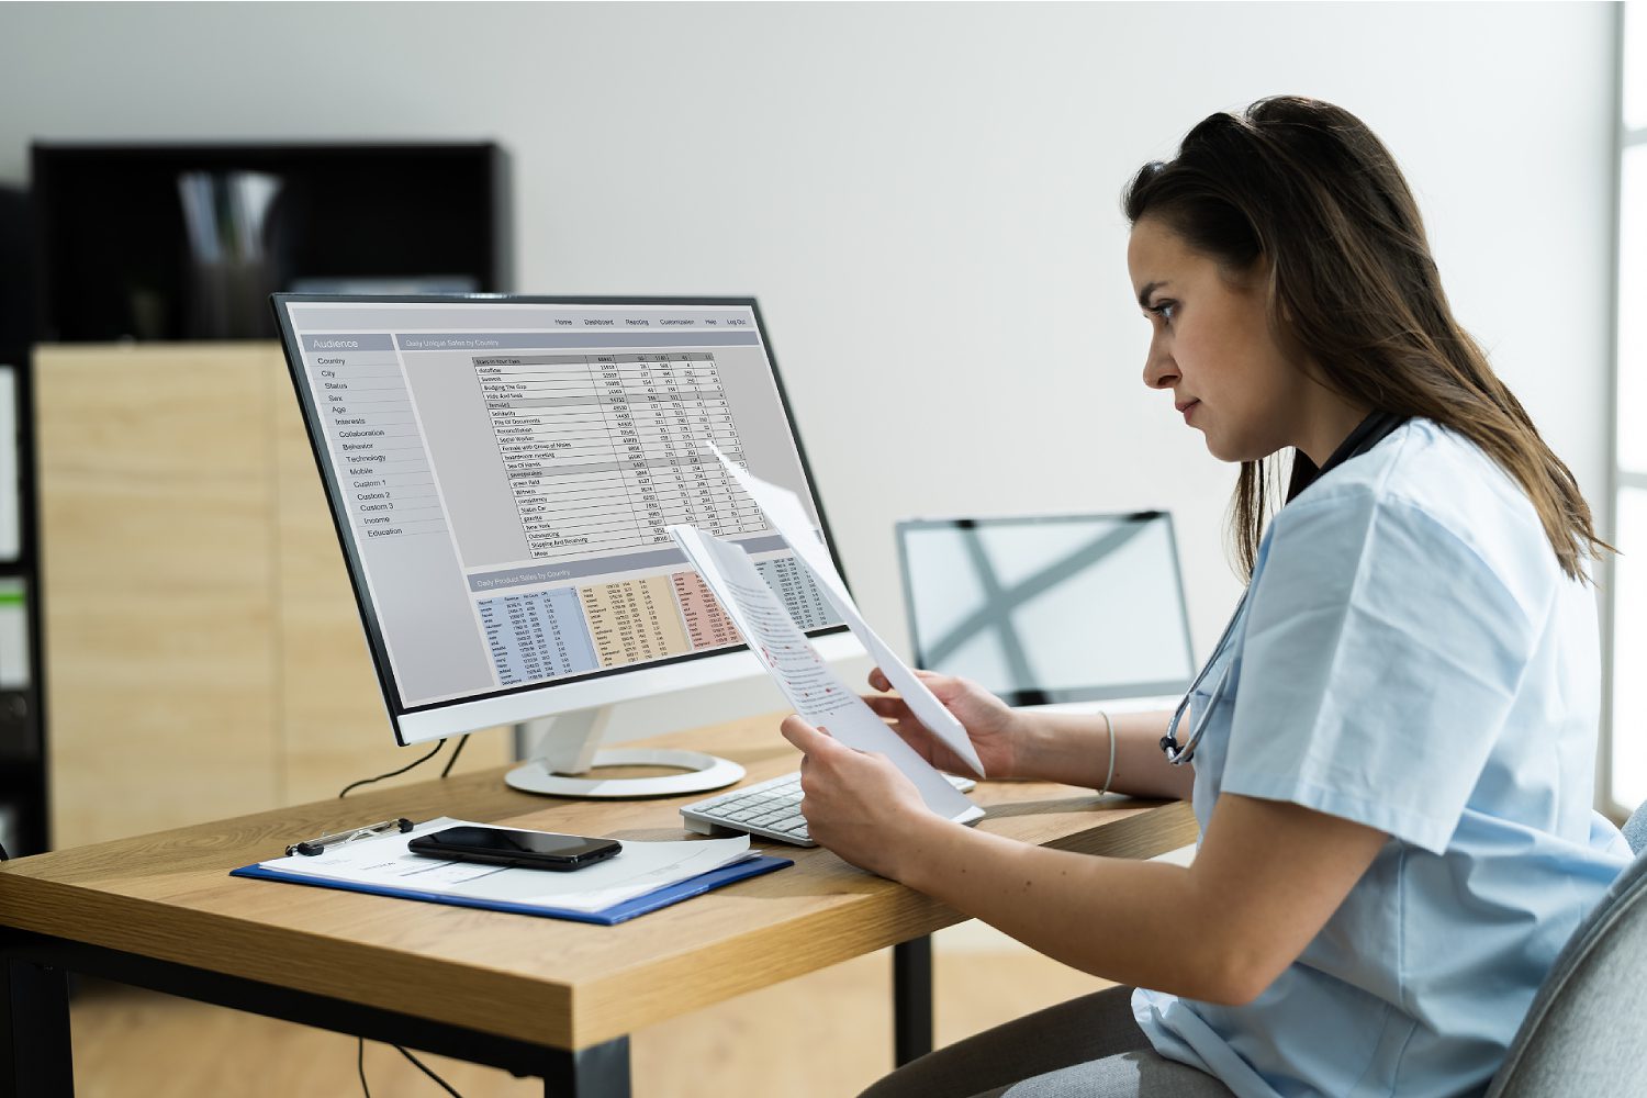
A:
[[[427,751],[395,746],[277,344],[40,347],[35,379],[58,848]],[[484,733],[458,765],[507,751]]]

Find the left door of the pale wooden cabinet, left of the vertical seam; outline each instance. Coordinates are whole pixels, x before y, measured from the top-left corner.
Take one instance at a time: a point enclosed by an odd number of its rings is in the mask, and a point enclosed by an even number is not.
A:
[[[36,352],[58,848],[282,803],[270,354]]]

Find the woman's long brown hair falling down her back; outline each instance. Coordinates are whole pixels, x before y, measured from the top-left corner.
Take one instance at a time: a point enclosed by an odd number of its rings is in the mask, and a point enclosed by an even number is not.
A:
[[[1138,170],[1127,219],[1159,217],[1234,275],[1268,265],[1270,323],[1319,380],[1374,412],[1435,420],[1476,443],[1527,492],[1561,571],[1611,547],[1571,471],[1453,318],[1418,202],[1395,158],[1355,115],[1318,99],[1260,99],[1215,114],[1169,161]],[[1280,497],[1280,459],[1243,461],[1230,507],[1252,578]],[[1291,454],[1308,471],[1309,458]]]

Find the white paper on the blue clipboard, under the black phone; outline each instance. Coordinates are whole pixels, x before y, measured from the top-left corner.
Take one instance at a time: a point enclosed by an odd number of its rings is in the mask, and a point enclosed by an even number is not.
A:
[[[488,866],[473,861],[443,861],[407,849],[407,843],[420,835],[456,826],[489,828],[496,825],[441,817],[420,823],[404,835],[394,833],[354,843],[338,843],[320,854],[292,854],[260,864],[265,869],[385,889],[415,889],[418,892],[598,912],[654,889],[695,877],[700,872],[754,858],[758,853],[749,849],[748,835],[679,843],[623,840],[623,849],[606,861],[570,872],[555,872]]]

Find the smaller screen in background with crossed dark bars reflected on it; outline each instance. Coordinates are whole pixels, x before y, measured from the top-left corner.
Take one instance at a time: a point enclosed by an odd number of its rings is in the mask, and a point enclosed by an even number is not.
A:
[[[1194,673],[1163,512],[898,523],[919,667],[1013,705],[1156,698]]]

